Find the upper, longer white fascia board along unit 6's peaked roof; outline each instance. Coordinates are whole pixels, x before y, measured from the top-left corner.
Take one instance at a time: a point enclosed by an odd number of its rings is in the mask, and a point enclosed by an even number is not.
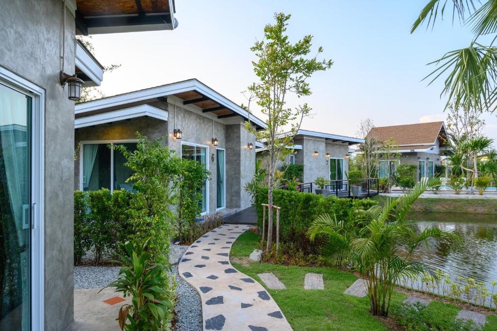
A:
[[[102,108],[119,107],[129,103],[165,97],[171,94],[188,91],[197,91],[210,98],[212,101],[225,106],[232,111],[235,111],[241,116],[248,118],[247,110],[226,99],[216,91],[208,88],[195,79],[78,104],[75,107],[75,113],[78,114],[86,111],[99,110]],[[253,115],[250,116],[250,120],[261,127],[267,127],[266,123]]]

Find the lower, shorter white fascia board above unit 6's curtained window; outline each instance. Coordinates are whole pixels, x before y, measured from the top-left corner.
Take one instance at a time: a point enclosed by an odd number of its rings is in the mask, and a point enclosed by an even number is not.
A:
[[[136,118],[141,116],[150,116],[167,121],[167,111],[150,105],[140,105],[131,108],[108,111],[101,114],[90,115],[76,118],[74,128],[99,125],[103,123],[115,122],[118,120]]]

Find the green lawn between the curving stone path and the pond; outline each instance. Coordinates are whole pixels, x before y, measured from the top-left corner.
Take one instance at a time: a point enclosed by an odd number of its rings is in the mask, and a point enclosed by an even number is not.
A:
[[[258,247],[259,236],[253,232],[242,234],[233,244],[230,256],[232,264],[240,271],[263,284],[258,273],[272,272],[285,284],[286,290],[269,290],[294,330],[298,331],[363,331],[388,330],[369,314],[368,298],[356,298],[343,294],[357,279],[352,273],[335,268],[294,267],[249,261],[249,266],[233,259],[246,258]],[[239,261],[239,260],[237,260]],[[304,290],[304,278],[308,272],[322,273],[325,290]],[[393,303],[401,303],[406,294],[396,292]],[[443,325],[453,321],[458,308],[454,305],[432,302],[425,310],[426,322]],[[497,330],[497,317],[489,316],[485,331]]]

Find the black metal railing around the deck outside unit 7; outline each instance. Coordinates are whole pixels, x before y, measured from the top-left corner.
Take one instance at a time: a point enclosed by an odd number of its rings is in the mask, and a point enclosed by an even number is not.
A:
[[[299,185],[300,192],[316,193],[321,190],[325,196],[334,195],[339,198],[366,198],[380,193],[380,183],[378,178],[364,178],[354,181],[346,179],[333,180],[320,188],[314,182],[302,183]]]

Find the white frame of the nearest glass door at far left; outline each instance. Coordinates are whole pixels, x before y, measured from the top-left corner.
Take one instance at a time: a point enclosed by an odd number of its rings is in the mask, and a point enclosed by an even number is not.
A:
[[[31,331],[45,325],[45,90],[0,66],[0,83],[31,97]]]

